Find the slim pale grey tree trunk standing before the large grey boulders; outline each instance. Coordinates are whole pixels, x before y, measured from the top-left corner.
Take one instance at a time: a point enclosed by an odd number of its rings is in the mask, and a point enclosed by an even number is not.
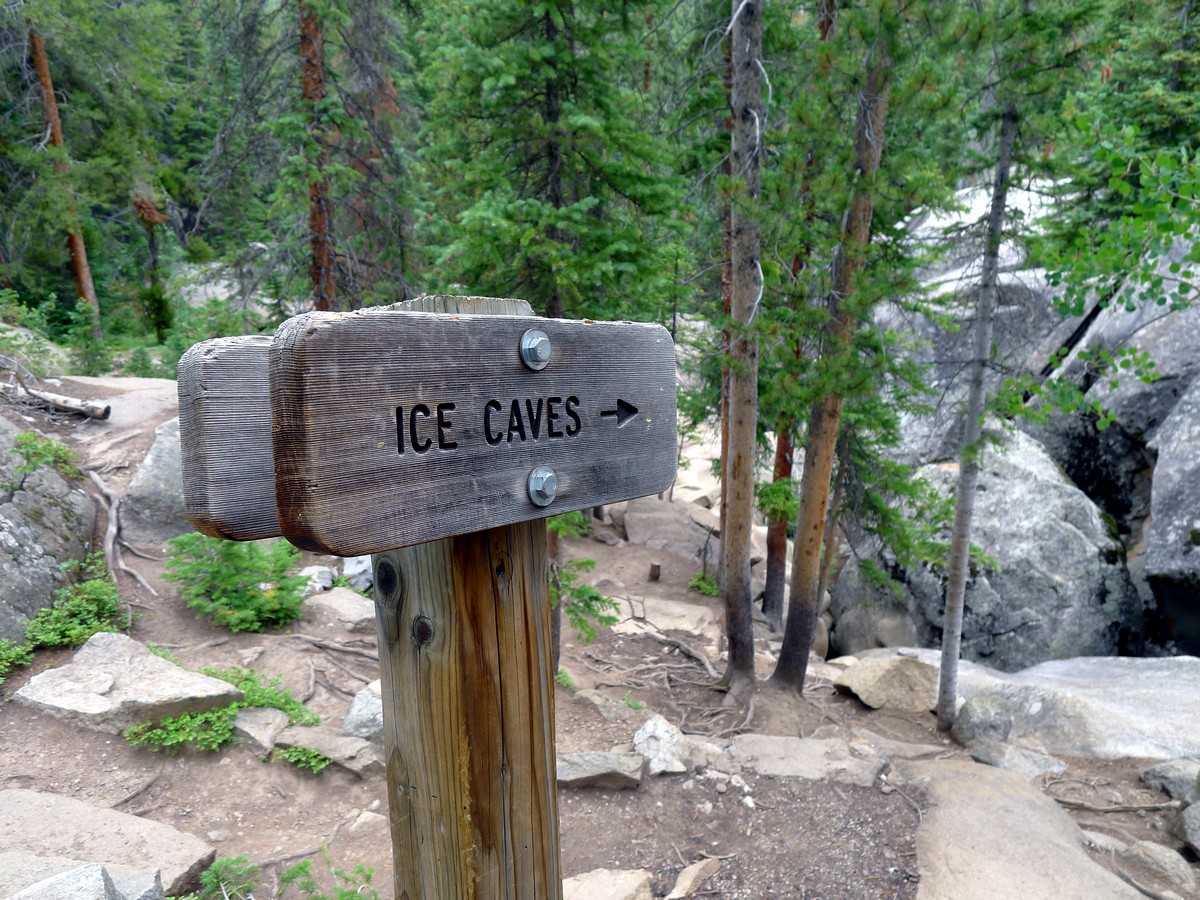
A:
[[[966,602],[967,571],[971,556],[971,521],[974,517],[976,485],[979,481],[979,456],[983,444],[984,370],[991,354],[991,331],[996,320],[996,272],[1000,245],[1004,235],[1004,206],[1008,202],[1008,178],[1013,164],[1019,114],[1009,103],[1000,119],[1000,145],[996,149],[996,174],[991,185],[991,209],[988,212],[988,241],[983,251],[979,300],[976,305],[974,355],[967,389],[967,414],[962,424],[962,449],[959,451],[959,484],[954,492],[954,532],[946,584],[946,613],[942,623],[942,666],[937,683],[937,728],[949,731],[958,714],[959,652],[962,644],[962,608]]]

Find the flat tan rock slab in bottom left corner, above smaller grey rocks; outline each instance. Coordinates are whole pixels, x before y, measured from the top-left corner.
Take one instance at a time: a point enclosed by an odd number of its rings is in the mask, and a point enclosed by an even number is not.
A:
[[[167,894],[190,889],[216,859],[208,844],[170,826],[20,788],[0,791],[0,846],[12,853],[157,869]]]

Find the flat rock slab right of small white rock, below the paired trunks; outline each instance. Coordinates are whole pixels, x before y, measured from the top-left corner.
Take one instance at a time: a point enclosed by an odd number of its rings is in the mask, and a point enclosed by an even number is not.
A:
[[[730,755],[760,775],[832,779],[870,787],[887,757],[862,739],[792,738],[778,734],[737,734]]]

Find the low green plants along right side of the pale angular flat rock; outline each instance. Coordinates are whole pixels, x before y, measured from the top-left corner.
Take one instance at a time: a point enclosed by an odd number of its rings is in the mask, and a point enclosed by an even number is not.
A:
[[[180,748],[216,751],[234,739],[234,721],[238,710],[245,708],[271,708],[288,714],[289,725],[317,725],[320,716],[281,686],[278,677],[263,678],[252,668],[202,668],[211,678],[228,682],[244,697],[224,707],[203,713],[184,713],[162,721],[143,722],[125,731],[125,739],[136,746],[176,752]]]

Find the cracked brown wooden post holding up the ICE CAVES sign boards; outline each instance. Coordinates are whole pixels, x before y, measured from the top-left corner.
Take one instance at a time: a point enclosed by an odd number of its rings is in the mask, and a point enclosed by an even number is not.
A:
[[[546,521],[372,563],[396,898],[562,896]]]

